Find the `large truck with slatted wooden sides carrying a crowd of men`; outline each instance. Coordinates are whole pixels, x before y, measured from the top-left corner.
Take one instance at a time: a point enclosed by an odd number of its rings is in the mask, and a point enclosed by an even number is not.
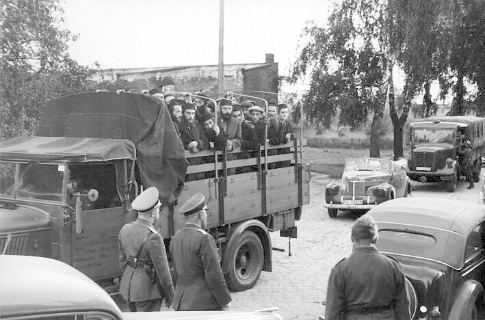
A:
[[[272,271],[270,232],[297,237],[311,178],[304,144],[266,144],[253,157],[239,149],[231,152],[237,157],[190,153],[157,97],[86,92],[54,99],[35,136],[0,144],[0,252],[55,258],[116,291],[118,232],[136,218],[131,201],[142,189],[159,189],[156,227],[168,248],[184,223],[179,207],[200,192],[228,287],[249,289],[261,271]],[[288,152],[270,156],[271,148]],[[280,165],[268,169],[270,163]],[[70,176],[81,176],[86,189],[75,202]],[[86,199],[92,206],[83,207]]]

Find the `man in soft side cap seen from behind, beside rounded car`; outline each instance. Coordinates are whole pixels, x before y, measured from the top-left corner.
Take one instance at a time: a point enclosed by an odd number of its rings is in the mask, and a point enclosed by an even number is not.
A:
[[[381,254],[378,228],[370,215],[352,226],[352,254],[328,278],[325,319],[410,319],[402,265]]]

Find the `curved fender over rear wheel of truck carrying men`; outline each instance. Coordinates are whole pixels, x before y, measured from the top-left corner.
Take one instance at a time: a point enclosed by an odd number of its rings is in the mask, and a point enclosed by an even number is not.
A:
[[[241,222],[240,224],[234,225],[233,230],[231,231],[231,235],[229,236],[229,241],[227,241],[227,244],[224,245],[224,248],[230,248],[231,245],[235,241],[237,241],[239,237],[241,237],[242,233],[245,230],[251,230],[255,232],[258,235],[259,239],[261,239],[261,244],[263,245],[263,252],[264,252],[263,271],[271,272],[272,271],[271,237],[270,237],[270,232],[267,230],[263,222],[256,219],[250,219],[250,220]],[[231,265],[230,263],[228,263],[228,261],[231,261],[231,259],[226,255],[227,255],[227,252],[226,250],[224,250],[224,259],[222,261],[222,272],[224,274],[227,274],[231,269]]]

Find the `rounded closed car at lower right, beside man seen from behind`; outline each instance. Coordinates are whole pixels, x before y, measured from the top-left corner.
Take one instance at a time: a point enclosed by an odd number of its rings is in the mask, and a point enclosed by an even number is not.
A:
[[[378,225],[378,250],[404,268],[411,319],[478,319],[484,299],[485,205],[402,198],[367,214]]]

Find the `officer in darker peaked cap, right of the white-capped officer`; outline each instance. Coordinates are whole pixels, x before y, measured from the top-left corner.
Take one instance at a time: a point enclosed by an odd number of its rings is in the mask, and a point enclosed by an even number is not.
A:
[[[177,281],[172,308],[175,310],[225,310],[231,295],[220,267],[218,248],[207,226],[205,198],[198,193],[180,208],[183,228],[170,241]]]

